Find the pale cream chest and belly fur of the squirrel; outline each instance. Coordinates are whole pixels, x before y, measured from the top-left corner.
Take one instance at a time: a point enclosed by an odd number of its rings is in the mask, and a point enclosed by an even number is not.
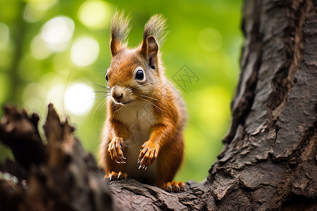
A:
[[[137,159],[142,144],[149,140],[150,129],[155,124],[155,116],[150,103],[133,102],[125,105],[118,111],[118,120],[125,124],[130,132],[130,136],[125,139],[128,151],[125,154],[127,158],[126,172],[132,178],[146,177],[154,178],[156,174],[156,162],[150,165],[147,170],[139,170]]]

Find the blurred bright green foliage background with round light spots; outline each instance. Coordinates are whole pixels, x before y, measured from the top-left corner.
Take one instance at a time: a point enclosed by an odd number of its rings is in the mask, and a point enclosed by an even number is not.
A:
[[[176,179],[201,181],[220,153],[230,125],[242,46],[240,0],[0,0],[0,104],[13,102],[38,112],[42,125],[47,104],[55,103],[77,127],[85,149],[97,155],[106,117],[104,98],[78,90],[100,90],[92,83],[106,84],[109,25],[116,8],[130,13],[130,46],[142,41],[149,17],[162,13],[169,31],[161,48],[166,75],[173,81],[186,65],[198,77],[178,87],[189,120],[185,162]],[[67,94],[75,83],[82,87]],[[72,98],[78,96],[81,99]],[[63,106],[63,101],[68,104]],[[88,107],[82,108],[85,102]],[[6,147],[0,146],[0,160],[8,156]]]

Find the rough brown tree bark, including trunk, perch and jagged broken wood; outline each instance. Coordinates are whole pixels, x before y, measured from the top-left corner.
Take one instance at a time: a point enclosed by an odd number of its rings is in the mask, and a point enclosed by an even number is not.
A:
[[[1,210],[317,210],[316,11],[313,0],[244,2],[232,126],[206,181],[185,193],[135,180],[109,188],[52,106],[47,143],[37,115],[8,106],[0,139],[15,162],[0,166]]]

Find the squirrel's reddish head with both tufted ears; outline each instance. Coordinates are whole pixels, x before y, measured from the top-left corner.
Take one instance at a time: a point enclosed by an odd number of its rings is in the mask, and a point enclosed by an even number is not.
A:
[[[128,18],[116,13],[111,22],[111,65],[106,73],[106,82],[115,103],[150,101],[162,82],[159,46],[165,38],[165,19],[153,15],[144,26],[142,44],[129,49],[124,43],[128,36]]]

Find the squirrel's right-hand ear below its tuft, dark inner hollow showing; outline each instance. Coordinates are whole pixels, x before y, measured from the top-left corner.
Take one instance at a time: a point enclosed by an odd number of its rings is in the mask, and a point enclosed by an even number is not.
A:
[[[159,44],[157,44],[153,36],[143,39],[141,54],[149,62],[149,66],[152,69],[156,69],[157,66],[157,53],[159,52]]]

